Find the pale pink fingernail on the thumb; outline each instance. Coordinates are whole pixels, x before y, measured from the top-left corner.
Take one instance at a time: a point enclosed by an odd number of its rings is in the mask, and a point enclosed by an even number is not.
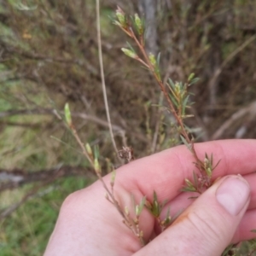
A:
[[[242,177],[226,177],[216,191],[217,201],[227,212],[236,216],[245,207],[250,187]]]

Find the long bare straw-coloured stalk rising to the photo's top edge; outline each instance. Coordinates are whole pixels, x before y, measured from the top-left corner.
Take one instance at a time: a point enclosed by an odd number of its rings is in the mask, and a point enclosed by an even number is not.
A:
[[[115,143],[114,137],[113,137],[113,128],[111,125],[111,119],[110,119],[110,114],[109,114],[108,96],[107,96],[104,69],[103,69],[102,37],[101,37],[101,23],[100,23],[100,1],[99,0],[96,0],[96,26],[97,26],[97,41],[98,41],[98,50],[99,50],[99,62],[100,62],[101,77],[102,77],[102,90],[103,90],[104,104],[105,104],[106,114],[107,114],[107,119],[108,119],[108,129],[110,132],[110,137],[111,137],[111,141],[113,144],[113,148],[115,150],[115,153],[118,155],[118,148],[116,146],[116,143]]]

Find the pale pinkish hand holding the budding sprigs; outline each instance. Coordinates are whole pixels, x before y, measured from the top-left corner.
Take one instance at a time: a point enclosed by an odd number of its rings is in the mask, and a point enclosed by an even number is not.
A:
[[[145,247],[122,223],[97,181],[63,202],[44,256],[218,256],[230,242],[254,238],[256,234],[250,230],[256,230],[256,140],[198,143],[195,150],[201,159],[207,152],[215,162],[221,160],[213,173],[213,179],[220,179],[196,200],[188,199],[192,194],[180,192],[184,178],[195,170],[185,146],[134,160],[117,170],[115,195],[131,212],[131,194],[137,203],[144,195],[151,201],[154,190],[160,201],[168,201],[161,218],[169,206],[171,215],[184,210],[162,233],[148,210],[143,210],[140,227],[145,241],[150,240]],[[110,176],[104,180],[109,184]]]

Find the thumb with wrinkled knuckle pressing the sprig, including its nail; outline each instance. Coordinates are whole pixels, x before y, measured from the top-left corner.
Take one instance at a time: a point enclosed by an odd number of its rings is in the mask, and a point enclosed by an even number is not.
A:
[[[223,177],[135,255],[219,256],[230,244],[249,199],[244,178]]]

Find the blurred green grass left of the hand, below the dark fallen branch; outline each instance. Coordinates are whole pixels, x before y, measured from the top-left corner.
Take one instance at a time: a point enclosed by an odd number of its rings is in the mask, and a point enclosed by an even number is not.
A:
[[[26,201],[11,218],[0,221],[0,255],[42,255],[49,236],[55,226],[62,201],[74,190],[83,189],[91,180],[78,177],[61,178],[48,188],[40,189],[38,194]],[[29,191],[22,190],[3,193],[1,201],[15,202]]]

